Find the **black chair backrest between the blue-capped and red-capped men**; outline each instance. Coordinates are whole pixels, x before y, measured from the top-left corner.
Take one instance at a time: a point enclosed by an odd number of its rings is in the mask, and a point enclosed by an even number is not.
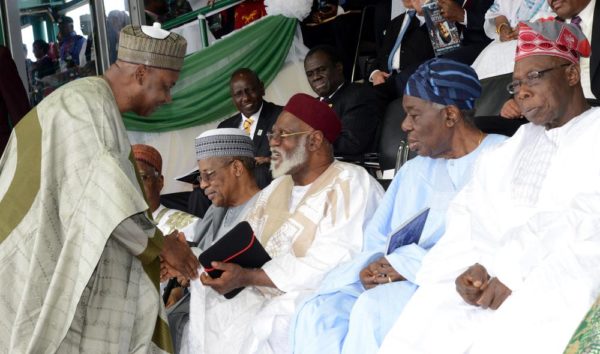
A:
[[[512,73],[489,77],[481,80],[481,97],[475,102],[478,116],[497,116],[508,101],[510,94],[506,85],[512,81]]]

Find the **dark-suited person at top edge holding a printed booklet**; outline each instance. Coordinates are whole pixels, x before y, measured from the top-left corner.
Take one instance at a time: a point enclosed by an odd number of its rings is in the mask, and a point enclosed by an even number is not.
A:
[[[443,55],[446,59],[471,65],[481,51],[491,42],[485,34],[485,13],[494,0],[438,0],[441,15],[455,21],[461,33],[460,48]]]

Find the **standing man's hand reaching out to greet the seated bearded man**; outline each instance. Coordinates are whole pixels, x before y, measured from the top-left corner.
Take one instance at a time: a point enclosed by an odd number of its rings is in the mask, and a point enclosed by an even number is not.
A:
[[[200,263],[188,246],[183,233],[175,230],[165,237],[160,259],[161,280],[175,276],[198,278]]]

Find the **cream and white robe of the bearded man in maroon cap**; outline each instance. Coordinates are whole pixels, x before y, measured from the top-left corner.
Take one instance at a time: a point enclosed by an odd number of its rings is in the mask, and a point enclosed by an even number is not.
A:
[[[249,287],[226,300],[192,285],[190,353],[286,353],[296,305],[335,265],[360,251],[383,189],[362,168],[334,162],[288,212],[291,177],[259,195],[248,221],[271,256],[262,269],[277,289]]]

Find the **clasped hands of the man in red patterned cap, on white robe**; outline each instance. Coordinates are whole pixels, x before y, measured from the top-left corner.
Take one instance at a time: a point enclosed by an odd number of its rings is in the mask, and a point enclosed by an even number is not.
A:
[[[479,263],[470,266],[454,283],[463,300],[484,309],[497,310],[512,293],[498,278],[490,278]]]

